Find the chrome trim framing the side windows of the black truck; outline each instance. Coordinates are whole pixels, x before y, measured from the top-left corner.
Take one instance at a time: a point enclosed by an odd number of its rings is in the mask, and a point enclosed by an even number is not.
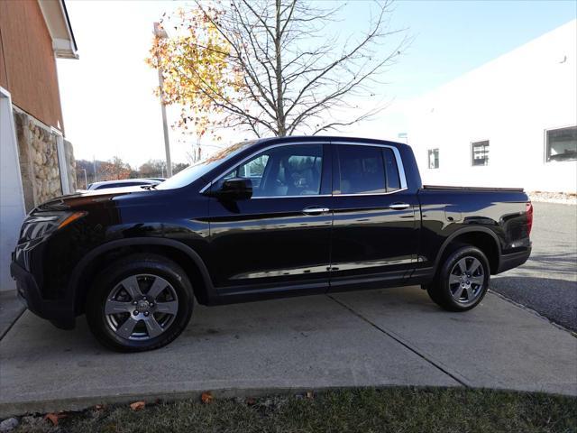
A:
[[[253,152],[243,160],[237,162],[233,168],[226,171],[226,173],[238,168],[239,166],[243,165],[244,162],[249,161],[251,158],[257,156],[262,152],[266,152],[270,149],[274,149],[277,147],[286,147],[286,146],[294,146],[294,145],[303,145],[303,144],[336,144],[336,145],[347,145],[347,146],[370,146],[370,147],[385,147],[389,148],[393,154],[395,155],[395,160],[397,161],[397,170],[398,170],[398,179],[400,181],[400,189],[395,189],[394,191],[387,191],[387,192],[361,192],[356,194],[307,194],[304,196],[269,196],[269,197],[252,197],[252,198],[307,198],[307,197],[353,197],[353,196],[388,196],[389,194],[395,194],[400,191],[405,191],[408,189],[407,187],[407,176],[405,174],[405,168],[403,167],[403,162],[400,157],[400,152],[395,146],[391,146],[390,144],[380,144],[380,143],[356,143],[356,142],[296,142],[296,143],[277,143],[277,144],[270,144],[258,152]],[[200,189],[200,193],[204,193],[206,189],[209,189],[210,186],[216,181],[219,180],[222,176],[226,173],[221,173],[215,177],[215,179],[208,182],[202,189]]]

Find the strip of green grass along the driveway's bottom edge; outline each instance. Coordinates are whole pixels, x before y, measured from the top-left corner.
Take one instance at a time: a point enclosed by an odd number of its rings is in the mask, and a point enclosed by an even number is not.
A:
[[[40,417],[19,432],[577,432],[577,399],[542,393],[386,388],[322,392],[313,398],[162,402],[85,410],[58,428]]]

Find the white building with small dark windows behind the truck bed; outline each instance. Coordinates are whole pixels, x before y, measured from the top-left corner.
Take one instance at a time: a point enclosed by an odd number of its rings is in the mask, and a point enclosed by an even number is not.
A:
[[[577,21],[417,99],[425,184],[577,192]]]

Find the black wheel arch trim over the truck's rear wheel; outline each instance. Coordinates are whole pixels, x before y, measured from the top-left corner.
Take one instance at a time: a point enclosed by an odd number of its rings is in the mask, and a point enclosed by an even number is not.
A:
[[[453,247],[460,244],[469,244],[479,248],[489,260],[490,273],[499,270],[501,257],[499,237],[487,227],[464,227],[445,239],[435,259],[435,273],[443,263],[444,257],[453,251]]]

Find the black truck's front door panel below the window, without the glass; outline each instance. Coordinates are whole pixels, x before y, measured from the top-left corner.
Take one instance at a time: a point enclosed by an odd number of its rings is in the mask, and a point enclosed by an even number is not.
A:
[[[229,207],[211,198],[218,285],[298,281],[328,272],[332,217],[303,213],[307,207],[328,207],[328,201],[253,198]]]

